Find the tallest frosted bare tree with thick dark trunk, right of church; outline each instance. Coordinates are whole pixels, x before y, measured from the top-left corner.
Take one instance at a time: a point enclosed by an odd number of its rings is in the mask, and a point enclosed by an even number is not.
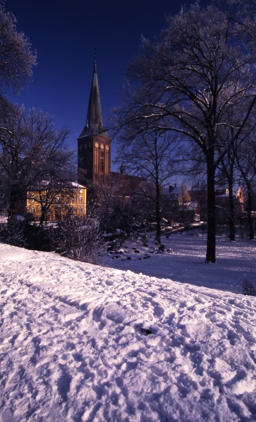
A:
[[[239,137],[256,102],[251,51],[240,47],[234,25],[214,5],[198,3],[167,19],[159,41],[143,39],[141,53],[128,68],[126,103],[117,125],[171,130],[202,151],[207,169],[206,261],[216,261],[215,172]],[[135,88],[132,89],[133,83]],[[236,110],[232,138],[222,138],[229,110]],[[138,122],[141,124],[139,125]],[[130,139],[135,139],[131,133]]]

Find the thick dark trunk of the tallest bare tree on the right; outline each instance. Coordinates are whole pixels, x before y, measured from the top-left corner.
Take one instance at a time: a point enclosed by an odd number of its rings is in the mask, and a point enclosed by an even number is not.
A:
[[[206,262],[216,261],[216,208],[215,208],[215,167],[214,154],[207,157],[207,249]]]

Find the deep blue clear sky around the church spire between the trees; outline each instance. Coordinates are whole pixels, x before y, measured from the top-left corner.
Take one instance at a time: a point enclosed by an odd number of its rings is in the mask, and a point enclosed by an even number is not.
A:
[[[16,16],[17,30],[30,39],[38,56],[33,81],[15,102],[54,115],[57,128],[71,127],[73,133],[68,143],[76,149],[76,139],[86,121],[94,47],[97,47],[105,123],[110,108],[121,101],[124,70],[137,53],[141,34],[153,40],[164,27],[166,14],[176,14],[181,5],[190,3],[189,0],[7,0],[6,10]]]

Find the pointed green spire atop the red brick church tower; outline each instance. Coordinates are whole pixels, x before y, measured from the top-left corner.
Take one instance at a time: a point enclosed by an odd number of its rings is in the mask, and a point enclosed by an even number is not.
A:
[[[97,76],[96,54],[94,54],[94,68],[92,75],[92,85],[89,97],[88,111],[86,116],[86,124],[79,138],[87,135],[102,135],[109,138],[108,133],[104,130],[102,121],[102,112],[100,106],[100,92]],[[78,139],[79,139],[78,138]]]

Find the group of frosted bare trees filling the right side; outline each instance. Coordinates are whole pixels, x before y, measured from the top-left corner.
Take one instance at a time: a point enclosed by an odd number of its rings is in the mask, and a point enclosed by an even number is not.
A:
[[[233,192],[239,173],[250,201],[255,179],[256,2],[194,3],[168,16],[159,38],[142,38],[113,113],[119,160],[155,185],[192,162],[207,184],[206,261],[216,261],[216,175]],[[136,157],[136,158],[135,158]],[[148,162],[146,162],[148,161]],[[196,163],[196,164],[195,164]],[[235,172],[236,169],[236,172]],[[164,176],[163,176],[164,175]],[[234,240],[230,197],[231,239]]]

